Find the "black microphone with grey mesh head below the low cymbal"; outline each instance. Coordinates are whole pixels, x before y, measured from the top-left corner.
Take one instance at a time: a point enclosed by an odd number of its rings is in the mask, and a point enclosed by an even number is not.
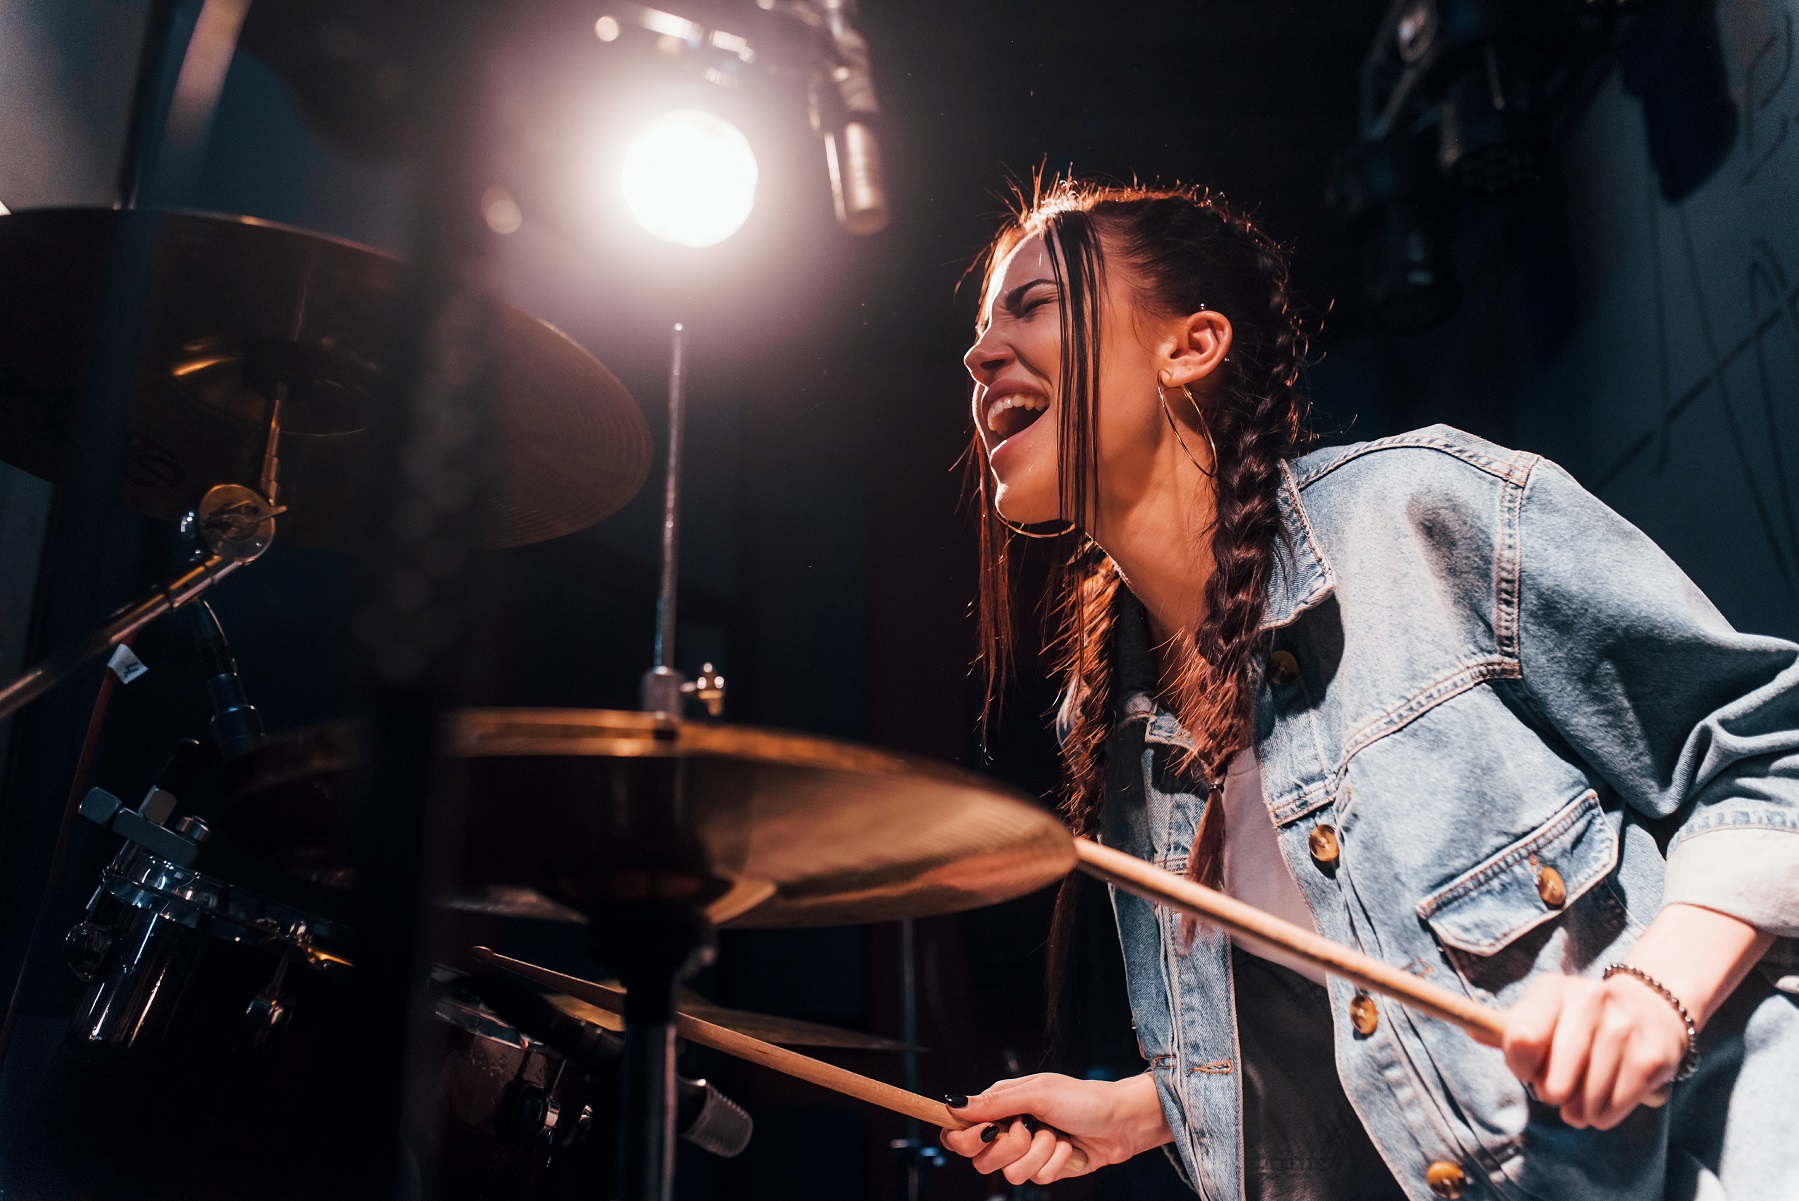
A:
[[[572,1018],[538,992],[504,976],[471,976],[466,987],[484,1005],[529,1037],[545,1043],[588,1075],[612,1077],[624,1057],[624,1039]],[[694,1147],[734,1160],[750,1145],[756,1120],[705,1081],[675,1077],[675,1129]]]

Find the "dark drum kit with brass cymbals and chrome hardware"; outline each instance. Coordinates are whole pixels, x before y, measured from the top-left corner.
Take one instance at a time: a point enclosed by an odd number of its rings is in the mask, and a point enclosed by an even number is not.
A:
[[[74,451],[72,408],[94,356],[83,331],[101,302],[106,248],[119,223],[146,218],[0,218],[0,277],[58,280],[49,298],[0,322],[0,457],[52,484]],[[86,983],[67,1043],[83,1064],[76,1075],[103,1079],[106,1106],[142,1102],[153,1084],[282,1109],[270,1090],[320,1088],[293,1048],[351,1019],[342,982],[363,955],[351,904],[363,730],[344,721],[266,734],[200,593],[254,561],[277,525],[306,545],[358,536],[371,408],[405,280],[387,255],[302,230],[191,214],[157,221],[117,500],[189,530],[196,566],[88,645],[25,672],[0,705],[23,707],[162,613],[196,613],[212,746],[178,746],[139,804],[97,787],[79,800],[79,814],[121,847],[67,935],[68,967]],[[648,430],[624,387],[516,309],[502,311],[497,345],[491,545],[554,538],[622,505],[648,471]],[[721,680],[705,683],[702,698],[716,703]],[[439,901],[477,917],[586,922],[628,985],[543,987],[545,969],[488,951],[434,965],[450,1196],[533,1196],[558,1156],[594,1158],[583,1147],[621,1122],[619,1034],[635,1037],[640,996],[676,1003],[678,976],[707,953],[714,926],[950,913],[1042,888],[1074,861],[1054,816],[991,780],[820,737],[673,712],[459,710],[444,746],[466,796],[462,852]],[[191,787],[201,773],[207,787]],[[691,998],[678,1005],[680,1021],[734,1037],[732,1054],[903,1048]],[[673,1016],[644,1009],[646,1025]],[[790,1073],[819,1064],[781,1054],[792,1059],[774,1066]],[[241,1091],[246,1063],[261,1091]],[[673,1077],[671,1057],[657,1063],[673,1127],[739,1151],[748,1118],[703,1082]],[[900,1104],[955,1125],[941,1104],[910,1093]],[[189,1167],[166,1179],[189,1196],[239,1188],[243,1156],[219,1156],[230,1170]]]

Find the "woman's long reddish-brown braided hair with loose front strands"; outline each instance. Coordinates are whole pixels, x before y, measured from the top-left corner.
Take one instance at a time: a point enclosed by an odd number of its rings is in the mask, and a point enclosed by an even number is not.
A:
[[[1061,307],[1058,392],[1063,514],[1085,514],[1097,475],[1099,298],[1110,257],[1133,273],[1141,302],[1168,315],[1216,309],[1231,320],[1231,358],[1202,394],[1218,448],[1213,574],[1205,609],[1168,647],[1166,701],[1193,735],[1180,764],[1220,784],[1249,743],[1258,626],[1277,550],[1281,460],[1311,444],[1299,370],[1306,331],[1288,289],[1286,254],[1245,214],[1198,189],[1115,187],[1061,180],[1042,189],[995,237],[986,275],[1033,234],[1049,241]],[[986,295],[986,289],[982,291]],[[989,466],[975,433],[971,466],[980,503],[980,665],[986,716],[995,712],[1016,662],[1016,583],[1011,532],[993,509]],[[1061,813],[1076,834],[1099,827],[1105,746],[1112,732],[1112,626],[1119,568],[1090,538],[1072,534],[1051,584],[1047,649],[1063,681],[1058,717],[1063,759]],[[1187,856],[1187,876],[1218,886],[1223,870],[1223,805],[1207,804]],[[1074,926],[1072,883],[1056,901],[1051,973],[1060,978]],[[1056,989],[1051,989],[1054,1007]]]

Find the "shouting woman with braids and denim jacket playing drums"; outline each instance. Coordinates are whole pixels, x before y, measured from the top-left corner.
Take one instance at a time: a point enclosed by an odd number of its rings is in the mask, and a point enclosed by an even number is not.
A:
[[[1799,647],[1536,455],[1311,451],[1302,356],[1214,198],[1069,183],[1006,228],[984,663],[1009,539],[1061,536],[1076,832],[1504,1007],[1504,1046],[1115,892],[1148,1070],[950,1099],[944,1143],[1015,1183],[1168,1145],[1216,1201],[1799,1197]]]

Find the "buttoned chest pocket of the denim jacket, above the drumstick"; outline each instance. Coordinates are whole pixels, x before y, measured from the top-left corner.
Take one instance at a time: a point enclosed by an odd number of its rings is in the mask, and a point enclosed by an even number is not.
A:
[[[1578,974],[1628,926],[1608,877],[1617,831],[1587,789],[1418,903],[1470,989],[1509,1003],[1538,971]]]

